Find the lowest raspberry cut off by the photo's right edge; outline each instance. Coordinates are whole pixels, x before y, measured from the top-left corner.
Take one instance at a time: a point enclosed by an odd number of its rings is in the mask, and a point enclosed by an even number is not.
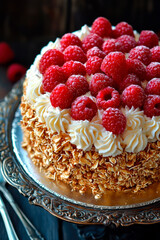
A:
[[[145,99],[143,109],[147,117],[160,116],[160,96],[148,95]]]

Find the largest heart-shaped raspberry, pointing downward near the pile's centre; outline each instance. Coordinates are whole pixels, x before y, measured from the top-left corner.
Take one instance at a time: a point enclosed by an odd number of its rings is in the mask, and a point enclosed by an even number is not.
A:
[[[109,53],[102,62],[101,70],[109,74],[116,83],[119,83],[126,75],[126,59],[121,52]]]

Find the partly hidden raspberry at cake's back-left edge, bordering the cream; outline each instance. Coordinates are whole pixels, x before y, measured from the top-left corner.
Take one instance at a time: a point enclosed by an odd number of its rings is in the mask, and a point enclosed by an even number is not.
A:
[[[82,47],[81,40],[73,33],[66,33],[60,40],[61,50],[64,51],[70,45]]]

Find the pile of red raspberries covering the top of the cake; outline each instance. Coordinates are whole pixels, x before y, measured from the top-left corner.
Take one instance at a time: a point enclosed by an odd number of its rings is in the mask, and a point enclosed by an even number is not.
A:
[[[112,29],[108,19],[99,17],[82,41],[67,33],[60,40],[60,48],[46,51],[39,62],[41,92],[51,93],[52,106],[71,108],[73,119],[88,121],[97,109],[103,109],[102,125],[116,135],[126,127],[121,107],[139,108],[150,118],[160,116],[160,46],[156,33],[142,31],[136,41],[128,23],[120,22]],[[96,102],[85,96],[89,91]]]

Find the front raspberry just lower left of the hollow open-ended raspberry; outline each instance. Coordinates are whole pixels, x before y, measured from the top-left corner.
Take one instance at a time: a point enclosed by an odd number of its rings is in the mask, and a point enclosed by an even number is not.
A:
[[[87,96],[81,96],[76,98],[72,103],[71,107],[71,117],[75,120],[88,120],[91,121],[92,118],[97,113],[97,106]]]

